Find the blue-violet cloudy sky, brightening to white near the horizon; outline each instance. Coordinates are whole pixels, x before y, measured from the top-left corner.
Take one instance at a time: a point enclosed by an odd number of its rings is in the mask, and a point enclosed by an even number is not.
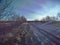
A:
[[[43,17],[60,13],[60,0],[15,0],[14,11],[27,20],[41,20]]]

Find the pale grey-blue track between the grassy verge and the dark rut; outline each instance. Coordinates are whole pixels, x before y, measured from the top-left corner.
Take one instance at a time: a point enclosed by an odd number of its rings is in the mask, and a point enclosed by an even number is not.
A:
[[[31,34],[33,35],[37,45],[53,45],[52,42],[50,42],[50,40],[47,39],[45,35],[43,35],[39,30],[37,30],[32,25],[30,25],[30,31],[32,32]]]

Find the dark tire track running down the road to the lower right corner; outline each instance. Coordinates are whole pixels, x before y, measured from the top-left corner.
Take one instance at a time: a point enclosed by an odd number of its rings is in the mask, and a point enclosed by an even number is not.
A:
[[[33,27],[35,27],[39,32],[41,32],[43,35],[45,35],[46,37],[48,37],[52,42],[54,42],[56,45],[60,45],[60,38],[56,37],[55,35],[51,34],[50,32],[47,32],[39,27],[37,27],[34,24],[30,24]]]

